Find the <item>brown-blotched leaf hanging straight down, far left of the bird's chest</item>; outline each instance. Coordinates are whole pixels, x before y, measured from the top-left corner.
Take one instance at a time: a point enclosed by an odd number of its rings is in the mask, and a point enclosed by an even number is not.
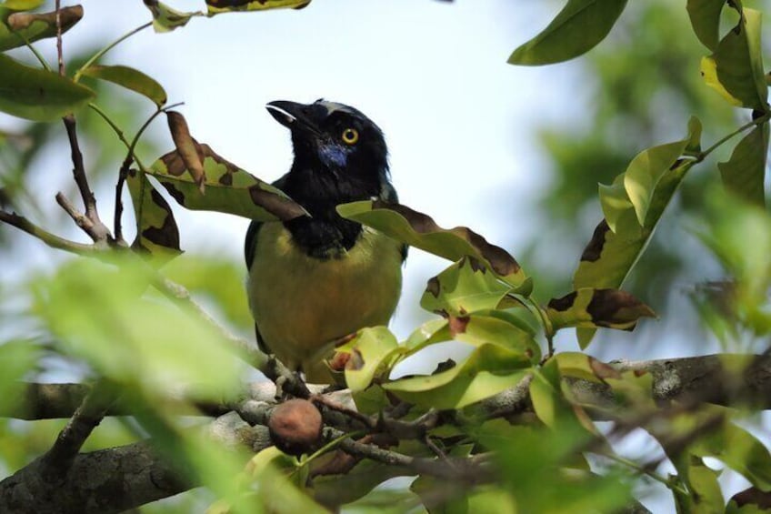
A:
[[[129,170],[125,181],[137,221],[136,237],[131,246],[148,252],[161,266],[182,253],[174,213],[144,174]]]

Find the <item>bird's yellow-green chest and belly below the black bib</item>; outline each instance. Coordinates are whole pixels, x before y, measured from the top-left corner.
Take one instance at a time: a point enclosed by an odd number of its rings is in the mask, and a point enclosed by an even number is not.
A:
[[[386,324],[401,290],[401,262],[400,245],[367,227],[352,247],[319,258],[283,224],[265,223],[247,282],[260,336],[295,368],[336,338]]]

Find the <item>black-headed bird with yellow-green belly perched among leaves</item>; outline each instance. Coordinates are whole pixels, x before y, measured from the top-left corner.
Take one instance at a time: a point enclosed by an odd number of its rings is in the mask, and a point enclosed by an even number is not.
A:
[[[252,221],[246,292],[257,344],[311,383],[334,383],[325,358],[365,327],[387,325],[401,294],[405,244],[340,217],[339,204],[398,202],[383,131],[352,106],[319,99],[265,108],[291,133],[294,161],[274,182],[309,216]]]

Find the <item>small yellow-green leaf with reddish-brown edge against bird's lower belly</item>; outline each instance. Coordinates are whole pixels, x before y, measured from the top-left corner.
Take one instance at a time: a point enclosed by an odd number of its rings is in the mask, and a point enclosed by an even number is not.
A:
[[[352,391],[368,388],[378,375],[390,371],[390,360],[399,353],[396,336],[386,327],[363,328],[337,352],[349,352],[345,364],[345,384]]]

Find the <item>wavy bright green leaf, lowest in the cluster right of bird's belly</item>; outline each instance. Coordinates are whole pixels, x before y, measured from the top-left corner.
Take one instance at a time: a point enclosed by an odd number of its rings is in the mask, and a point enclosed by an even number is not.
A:
[[[401,378],[383,385],[397,397],[426,408],[464,408],[513,388],[528,373],[522,353],[483,344],[463,362],[435,375]]]

